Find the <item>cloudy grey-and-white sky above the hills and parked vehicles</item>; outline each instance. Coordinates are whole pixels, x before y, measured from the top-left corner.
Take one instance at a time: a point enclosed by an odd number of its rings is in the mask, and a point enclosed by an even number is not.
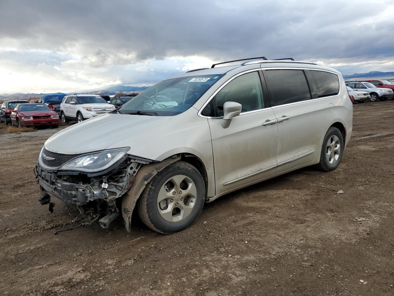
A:
[[[152,85],[266,56],[394,71],[392,0],[0,0],[0,94]]]

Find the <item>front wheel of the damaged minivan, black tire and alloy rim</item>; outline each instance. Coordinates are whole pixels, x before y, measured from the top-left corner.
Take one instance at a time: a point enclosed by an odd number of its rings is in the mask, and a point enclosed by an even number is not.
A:
[[[190,163],[176,161],[147,184],[138,200],[138,215],[152,230],[169,234],[189,227],[200,215],[205,184]]]

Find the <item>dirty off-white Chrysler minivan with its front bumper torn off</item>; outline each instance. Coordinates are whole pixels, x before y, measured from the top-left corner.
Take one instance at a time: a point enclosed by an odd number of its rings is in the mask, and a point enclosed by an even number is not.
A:
[[[103,228],[122,215],[128,231],[136,208],[148,227],[172,233],[229,192],[310,165],[338,167],[353,118],[338,71],[265,58],[221,64],[50,137],[35,167],[41,204],[53,211],[56,197],[76,210],[74,221]]]

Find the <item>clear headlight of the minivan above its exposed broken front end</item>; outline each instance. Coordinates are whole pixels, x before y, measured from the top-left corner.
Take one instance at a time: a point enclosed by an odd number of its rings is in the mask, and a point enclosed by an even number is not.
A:
[[[81,155],[71,159],[60,169],[80,170],[84,172],[97,172],[100,170],[105,170],[121,159],[129,149],[129,147],[126,147]]]

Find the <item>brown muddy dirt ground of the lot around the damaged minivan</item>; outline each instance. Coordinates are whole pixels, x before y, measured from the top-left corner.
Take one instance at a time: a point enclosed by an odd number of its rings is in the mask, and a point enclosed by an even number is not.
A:
[[[338,169],[231,193],[172,235],[121,218],[54,235],[69,216],[32,171],[48,135],[0,137],[0,295],[394,295],[393,118],[394,101],[354,105]]]

